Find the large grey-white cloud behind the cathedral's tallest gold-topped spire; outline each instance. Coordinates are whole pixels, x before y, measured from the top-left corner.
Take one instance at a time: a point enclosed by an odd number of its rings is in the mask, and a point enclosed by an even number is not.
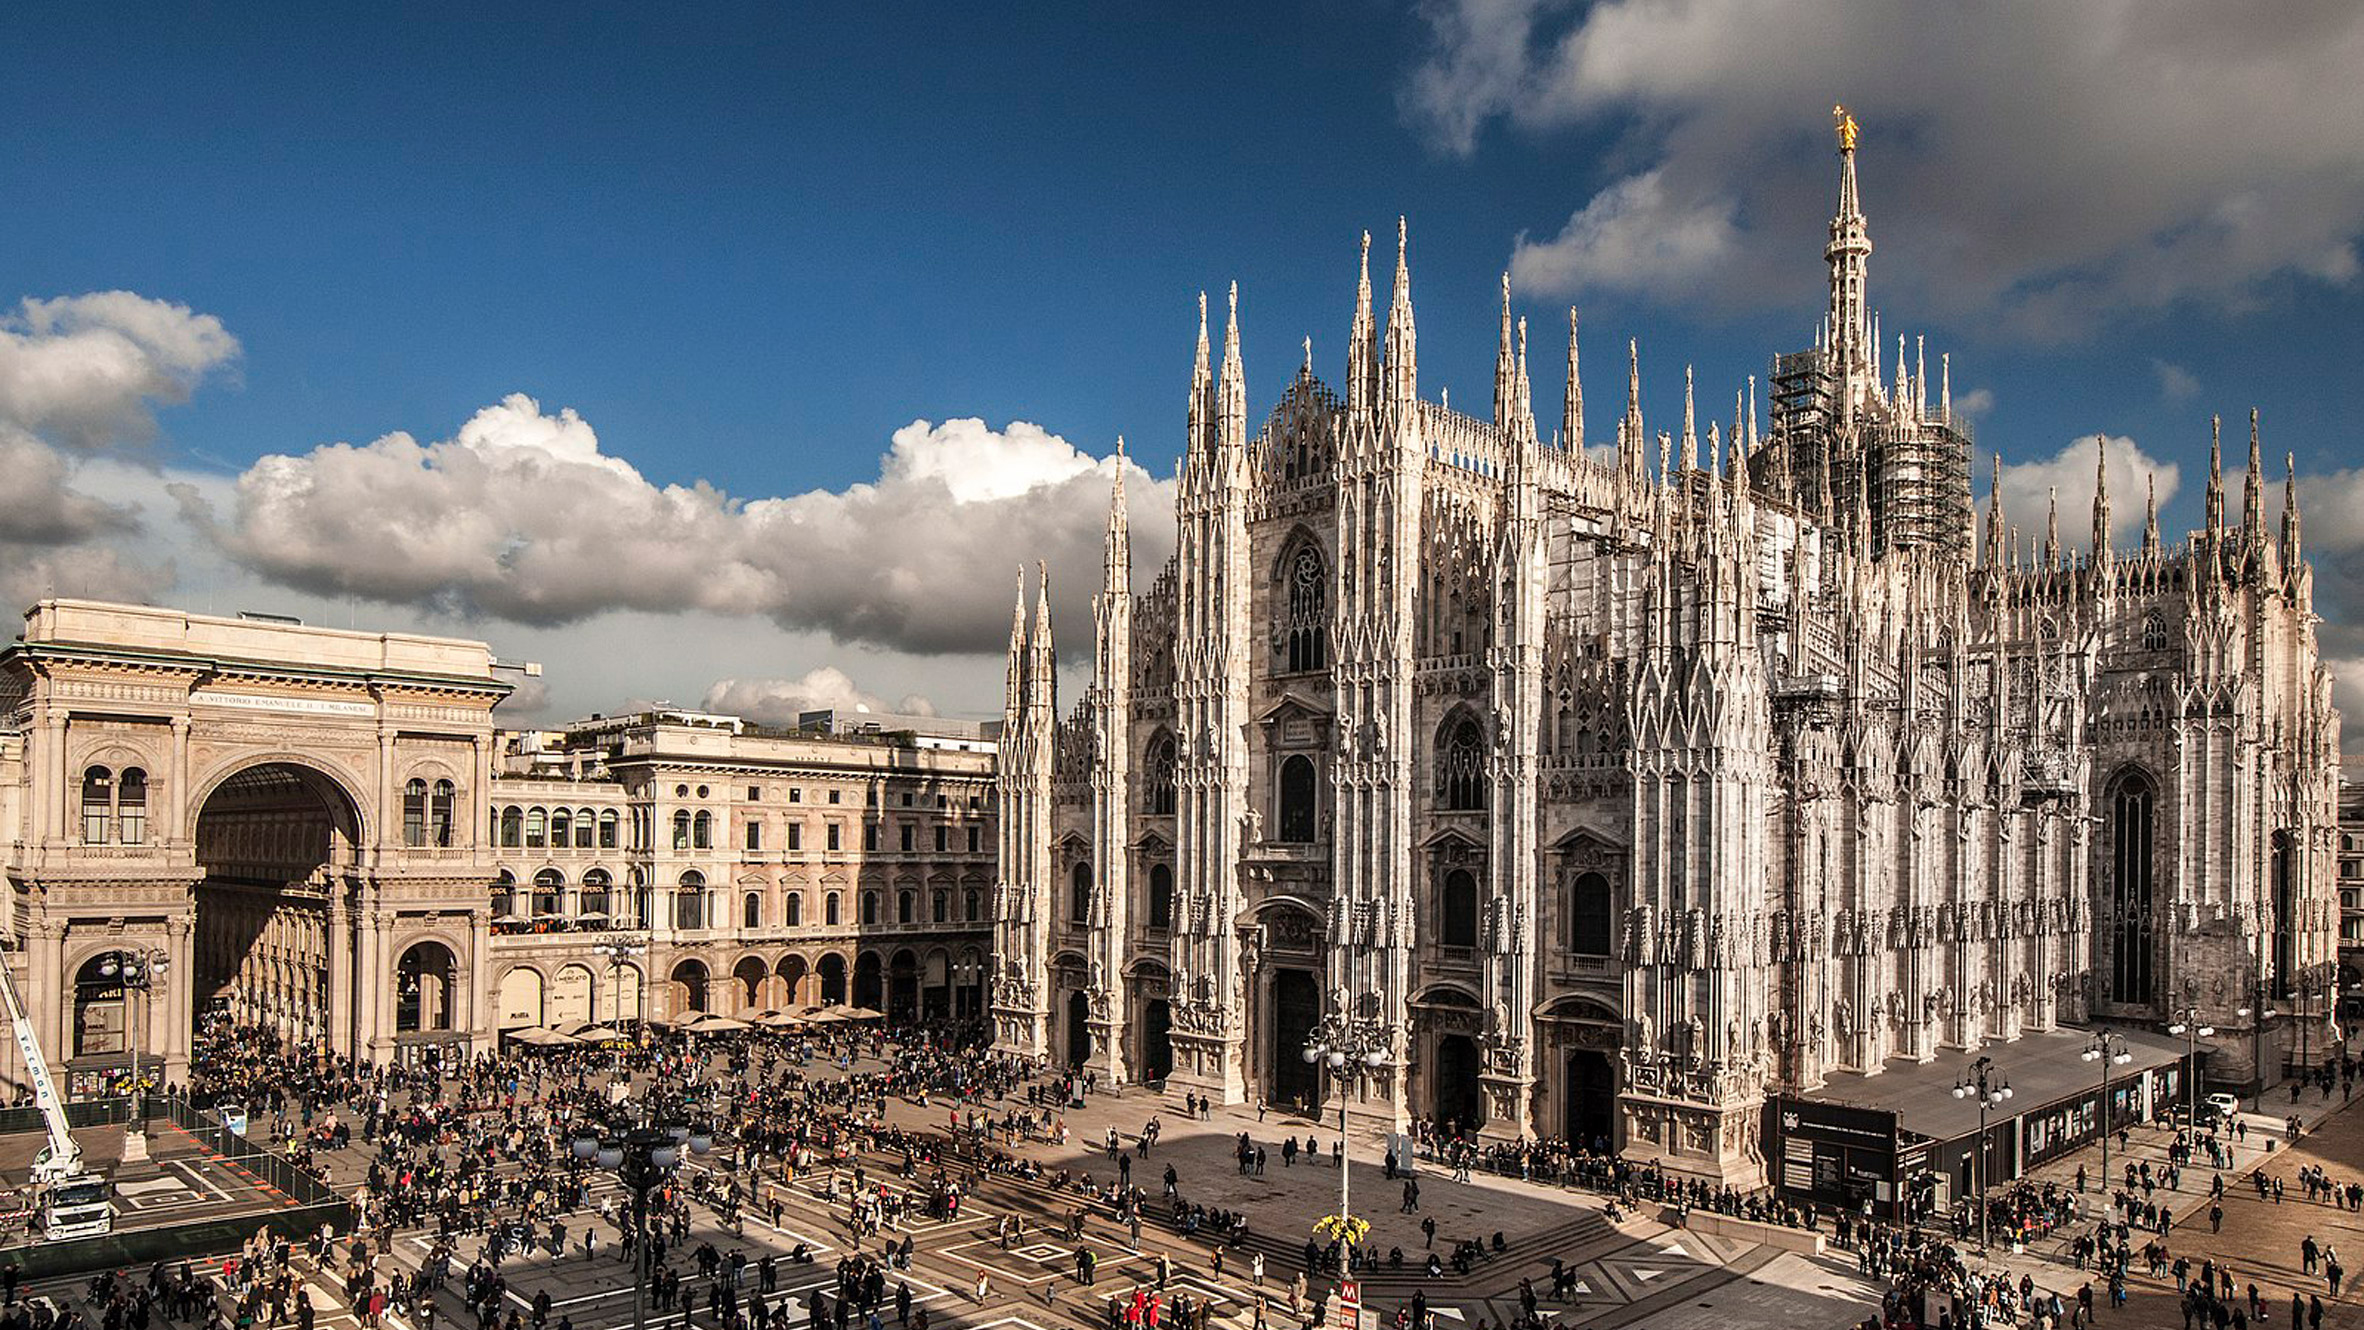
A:
[[[1615,135],[1537,295],[1664,283],[1790,305],[1832,208],[1827,106],[1863,123],[1875,295],[2073,335],[2116,309],[2347,283],[2364,232],[2364,7],[2210,0],[1435,0],[1407,118]],[[1655,234],[1655,227],[1664,234]],[[1626,267],[1631,265],[1631,274]]]

